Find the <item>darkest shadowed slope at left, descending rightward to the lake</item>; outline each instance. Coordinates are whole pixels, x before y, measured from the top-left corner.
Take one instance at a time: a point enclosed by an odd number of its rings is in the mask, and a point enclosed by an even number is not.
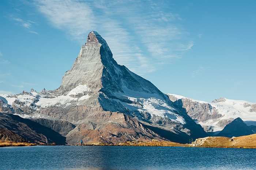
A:
[[[0,113],[0,127],[8,129],[31,143],[65,144],[65,137],[31,119],[18,115]]]

